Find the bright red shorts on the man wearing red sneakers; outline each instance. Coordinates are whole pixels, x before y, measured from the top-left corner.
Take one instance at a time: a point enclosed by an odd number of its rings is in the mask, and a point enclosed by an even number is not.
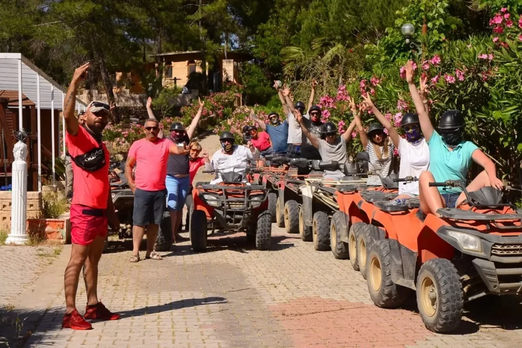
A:
[[[105,238],[109,221],[105,209],[78,204],[70,206],[71,240],[74,244],[89,245],[96,237]]]

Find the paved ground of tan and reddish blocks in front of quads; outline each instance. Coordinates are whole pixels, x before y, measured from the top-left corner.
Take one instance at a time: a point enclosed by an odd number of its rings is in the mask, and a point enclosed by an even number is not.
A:
[[[210,238],[207,253],[195,254],[182,242],[161,261],[133,264],[128,262],[130,241],[113,242],[100,263],[99,296],[122,319],[94,322],[90,331],[61,329],[66,246],[32,289],[18,297],[20,317],[38,318],[25,346],[522,346],[522,306],[516,299],[478,300],[467,307],[457,332],[434,334],[422,325],[414,298],[401,309],[377,308],[348,260],[315,251],[275,224],[272,231],[270,251],[257,251],[244,235],[235,234]],[[77,302],[82,313],[81,279]]]

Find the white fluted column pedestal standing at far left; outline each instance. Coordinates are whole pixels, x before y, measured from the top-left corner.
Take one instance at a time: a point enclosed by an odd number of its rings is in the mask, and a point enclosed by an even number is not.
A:
[[[13,149],[13,193],[11,195],[11,233],[6,244],[26,244],[27,235],[27,145],[18,141]]]

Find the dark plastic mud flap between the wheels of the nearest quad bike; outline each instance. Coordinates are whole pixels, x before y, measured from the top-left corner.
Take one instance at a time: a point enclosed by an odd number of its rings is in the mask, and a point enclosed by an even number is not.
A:
[[[396,239],[390,241],[392,259],[392,281],[401,286],[415,290],[415,270],[417,268],[417,253],[402,246]]]

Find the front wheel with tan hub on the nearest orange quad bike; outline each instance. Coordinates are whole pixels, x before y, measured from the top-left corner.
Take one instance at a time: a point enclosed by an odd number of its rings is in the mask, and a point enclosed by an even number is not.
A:
[[[417,277],[417,307],[430,331],[450,332],[460,325],[464,292],[451,261],[431,259],[421,266]]]

